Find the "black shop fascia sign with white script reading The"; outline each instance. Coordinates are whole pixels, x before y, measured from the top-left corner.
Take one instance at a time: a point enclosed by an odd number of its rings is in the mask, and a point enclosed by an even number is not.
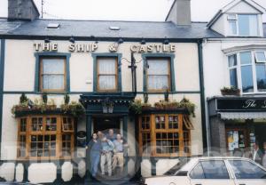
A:
[[[266,110],[266,98],[250,98],[250,99],[218,99],[218,110]]]

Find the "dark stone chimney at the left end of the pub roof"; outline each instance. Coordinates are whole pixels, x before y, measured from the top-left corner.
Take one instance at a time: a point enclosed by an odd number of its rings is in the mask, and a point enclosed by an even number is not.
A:
[[[35,20],[39,16],[34,0],[8,0],[8,20]]]

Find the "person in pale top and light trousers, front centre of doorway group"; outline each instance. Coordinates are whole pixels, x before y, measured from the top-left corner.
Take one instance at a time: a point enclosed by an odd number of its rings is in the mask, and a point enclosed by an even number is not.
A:
[[[112,156],[113,156],[113,142],[108,140],[105,136],[102,139],[102,152],[101,152],[101,171],[102,175],[106,174],[105,164],[107,162],[108,176],[112,175]]]

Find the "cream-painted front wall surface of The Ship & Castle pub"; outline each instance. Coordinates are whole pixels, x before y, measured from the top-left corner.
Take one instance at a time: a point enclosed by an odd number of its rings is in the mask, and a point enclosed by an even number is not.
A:
[[[34,43],[42,43],[43,41],[28,41],[28,40],[6,40],[5,50],[5,68],[4,68],[4,91],[12,92],[33,92],[35,86],[35,49]],[[68,52],[67,46],[70,44],[68,41],[52,41],[52,43],[59,44],[58,52]],[[90,43],[90,42],[76,42]],[[101,42],[98,44],[97,52],[109,52],[108,42]],[[122,53],[122,58],[130,60],[130,46],[139,43],[123,43],[120,45],[118,53]],[[199,78],[199,59],[197,44],[175,44],[176,52],[174,58],[175,67],[175,81],[176,91],[180,92],[200,92],[200,78]],[[135,53],[137,61],[137,91],[143,91],[143,61],[142,54]],[[70,57],[70,89],[71,92],[84,92],[90,93],[93,91],[93,58],[91,53],[72,52]],[[129,63],[122,60],[121,65],[121,78],[122,78],[122,91],[131,91],[131,72],[128,68]],[[91,83],[88,83],[91,82]],[[80,94],[70,95],[71,101],[78,101]],[[31,100],[39,99],[38,94],[27,94]],[[197,106],[196,117],[192,118],[192,124],[195,129],[192,130],[192,155],[200,155],[202,149],[202,134],[201,134],[201,109],[200,109],[200,93],[178,93],[169,95],[169,99],[181,101],[183,98],[188,98]],[[63,95],[49,95],[49,99],[54,99],[59,106],[63,102]],[[137,98],[143,99],[143,95],[137,95]],[[149,95],[149,102],[153,104],[155,101],[164,99],[164,95],[151,94]],[[18,94],[4,94],[3,106],[3,133],[2,133],[2,146],[1,146],[1,159],[2,160],[15,160],[17,157],[17,122],[12,117],[12,106],[18,104],[20,101],[20,93]],[[78,123],[78,131],[85,130],[86,123],[85,117]],[[136,140],[135,127],[132,120],[129,120],[128,125],[128,141],[129,157],[136,155]],[[84,156],[84,151],[78,151],[80,156]],[[172,163],[169,163],[172,164]],[[79,164],[79,174],[83,175],[81,164]],[[164,166],[168,170],[172,165]],[[133,169],[133,165],[129,169]],[[151,166],[150,162],[144,160],[142,163],[142,173],[150,175]],[[43,165],[43,169],[46,169]],[[48,168],[47,168],[48,169]],[[131,171],[131,170],[129,170]],[[31,178],[33,171],[31,171]],[[66,175],[68,178],[68,174]],[[70,177],[69,177],[70,178]],[[39,180],[32,180],[39,181]],[[40,180],[40,182],[43,180]]]

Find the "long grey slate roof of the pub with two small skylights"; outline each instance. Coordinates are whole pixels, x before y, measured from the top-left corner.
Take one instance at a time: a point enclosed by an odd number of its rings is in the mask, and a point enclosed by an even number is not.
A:
[[[59,28],[46,28],[49,23],[59,23]],[[54,36],[75,38],[145,38],[145,39],[198,39],[223,37],[206,28],[207,22],[192,22],[191,26],[176,26],[165,21],[113,21],[113,20],[33,20],[8,21],[0,19],[0,36]],[[120,27],[111,30],[109,27]]]

